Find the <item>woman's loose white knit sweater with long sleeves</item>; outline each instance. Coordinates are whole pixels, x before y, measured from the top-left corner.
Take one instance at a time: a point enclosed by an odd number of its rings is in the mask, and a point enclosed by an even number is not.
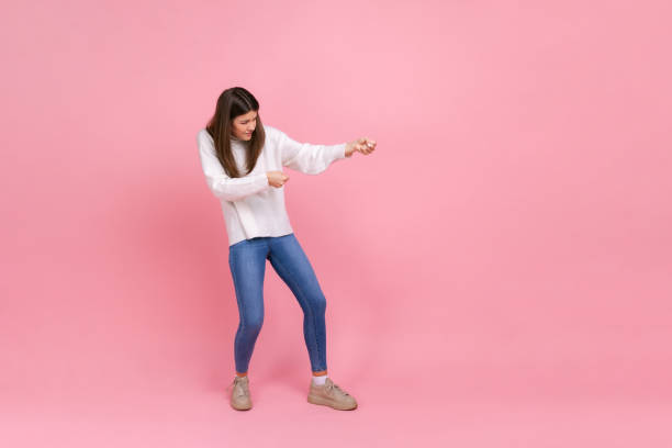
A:
[[[197,135],[205,181],[220,199],[228,245],[256,236],[282,236],[293,233],[284,209],[284,186],[272,187],[266,171],[289,167],[306,175],[318,175],[335,160],[346,158],[346,144],[312,145],[291,139],[282,131],[264,125],[266,142],[257,165],[242,178],[231,178],[215,155],[214,141],[202,128]],[[231,146],[239,172],[246,172],[246,143],[232,138]]]

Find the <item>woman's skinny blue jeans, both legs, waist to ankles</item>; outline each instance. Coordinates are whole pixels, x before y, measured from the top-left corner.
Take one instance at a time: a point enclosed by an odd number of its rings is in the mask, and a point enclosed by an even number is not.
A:
[[[326,299],[311,262],[291,233],[244,239],[228,248],[228,266],[240,316],[234,340],[236,371],[247,372],[264,323],[264,276],[267,259],[303,310],[303,337],[313,371],[326,370]]]

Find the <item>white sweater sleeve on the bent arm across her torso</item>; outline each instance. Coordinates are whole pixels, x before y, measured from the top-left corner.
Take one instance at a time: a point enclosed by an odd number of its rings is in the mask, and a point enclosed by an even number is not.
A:
[[[226,201],[238,201],[250,194],[259,193],[270,186],[266,172],[248,175],[242,178],[228,177],[215,155],[210,135],[206,132],[200,131],[197,139],[205,181],[216,198]]]

